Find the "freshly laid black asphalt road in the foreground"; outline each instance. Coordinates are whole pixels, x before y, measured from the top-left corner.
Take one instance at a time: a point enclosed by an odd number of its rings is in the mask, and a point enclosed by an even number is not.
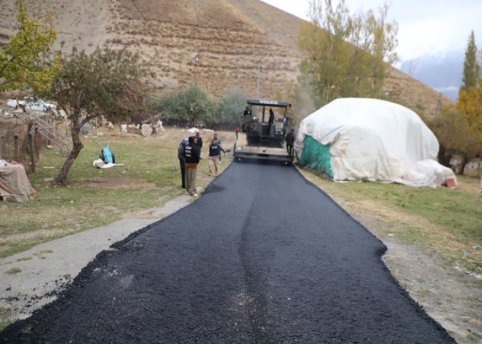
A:
[[[8,343],[451,343],[385,246],[295,169],[233,163],[104,251]]]

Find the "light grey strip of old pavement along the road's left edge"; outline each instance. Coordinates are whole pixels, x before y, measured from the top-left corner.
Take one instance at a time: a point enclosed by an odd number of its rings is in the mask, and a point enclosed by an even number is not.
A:
[[[162,208],[143,211],[143,219],[121,219],[1,258],[0,308],[10,309],[11,321],[28,318],[37,308],[54,301],[99,252],[112,250],[116,242],[176,213],[191,200],[191,196],[181,195]],[[12,269],[20,271],[8,273]]]

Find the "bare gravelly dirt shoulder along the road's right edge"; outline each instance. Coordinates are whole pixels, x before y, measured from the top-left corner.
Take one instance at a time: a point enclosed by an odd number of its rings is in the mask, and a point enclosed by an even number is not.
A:
[[[451,266],[428,248],[407,244],[384,228],[384,216],[337,200],[350,215],[387,246],[384,263],[412,299],[457,343],[482,343],[482,280]],[[382,214],[390,217],[390,214]]]

